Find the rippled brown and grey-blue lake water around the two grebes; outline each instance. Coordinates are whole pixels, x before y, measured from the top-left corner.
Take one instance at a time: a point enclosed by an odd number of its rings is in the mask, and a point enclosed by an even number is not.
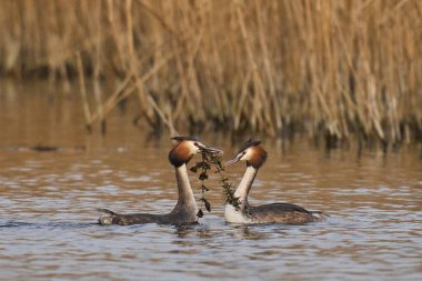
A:
[[[195,225],[101,227],[97,208],[173,208],[169,137],[134,127],[134,106],[113,112],[101,137],[86,132],[78,91],[0,89],[0,280],[421,280],[421,144],[358,155],[263,139],[269,159],[251,203],[298,203],[329,213],[324,222],[228,224],[212,177],[212,212]],[[240,144],[201,137],[224,159]],[[243,171],[227,174],[238,183]],[[191,182],[199,187],[195,174]]]

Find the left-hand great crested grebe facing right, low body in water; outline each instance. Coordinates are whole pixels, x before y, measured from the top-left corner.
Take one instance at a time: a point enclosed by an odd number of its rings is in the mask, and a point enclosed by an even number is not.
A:
[[[100,217],[100,224],[139,224],[139,223],[162,223],[183,224],[197,222],[198,207],[193,191],[188,178],[187,163],[195,153],[205,150],[211,153],[222,153],[221,150],[208,147],[193,137],[174,137],[177,144],[169,153],[169,161],[174,167],[178,182],[179,199],[174,209],[167,214],[151,213],[128,213],[119,214],[107,209],[100,211],[107,214]]]

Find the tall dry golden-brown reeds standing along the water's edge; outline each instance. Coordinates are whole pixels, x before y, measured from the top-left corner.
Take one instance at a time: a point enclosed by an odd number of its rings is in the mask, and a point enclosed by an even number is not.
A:
[[[0,72],[78,79],[89,127],[133,97],[171,133],[422,138],[419,0],[17,0],[0,19]]]

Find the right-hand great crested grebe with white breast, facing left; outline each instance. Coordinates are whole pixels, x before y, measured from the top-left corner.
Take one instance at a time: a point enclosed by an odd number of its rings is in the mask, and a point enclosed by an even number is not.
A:
[[[308,211],[304,208],[290,203],[272,203],[252,207],[248,202],[248,194],[251,190],[258,170],[267,160],[267,151],[260,145],[260,141],[247,141],[225,165],[238,161],[247,161],[247,172],[234,191],[234,197],[239,198],[240,207],[225,204],[225,221],[234,223],[289,223],[299,224],[312,221],[320,221],[324,214],[321,212]]]

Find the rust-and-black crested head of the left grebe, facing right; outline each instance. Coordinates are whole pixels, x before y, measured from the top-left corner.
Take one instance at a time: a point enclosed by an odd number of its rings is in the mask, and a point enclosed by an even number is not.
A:
[[[177,143],[169,153],[169,161],[177,168],[188,163],[194,154],[200,153],[202,150],[213,154],[220,154],[223,152],[220,149],[204,144],[194,137],[174,137],[171,139],[175,140]]]

